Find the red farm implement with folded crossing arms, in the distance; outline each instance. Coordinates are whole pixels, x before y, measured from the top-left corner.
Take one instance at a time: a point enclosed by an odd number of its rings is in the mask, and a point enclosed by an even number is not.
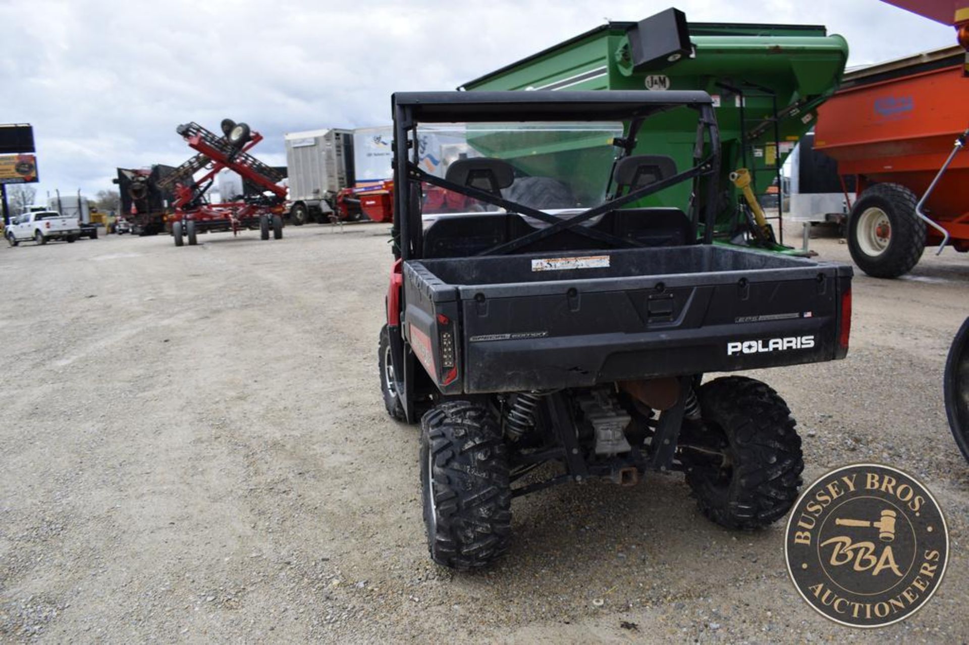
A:
[[[175,246],[182,246],[185,238],[190,245],[198,244],[198,233],[208,230],[232,230],[235,235],[240,229],[259,228],[263,239],[269,239],[270,230],[275,239],[283,236],[286,189],[277,185],[283,176],[249,154],[263,140],[262,135],[231,119],[222,121],[224,137],[194,122],[178,126],[175,132],[198,152],[160,182],[174,186],[174,215],[169,222]],[[266,190],[241,201],[209,203],[205,193],[222,169],[234,170]],[[202,170],[205,174],[194,179],[195,173]]]

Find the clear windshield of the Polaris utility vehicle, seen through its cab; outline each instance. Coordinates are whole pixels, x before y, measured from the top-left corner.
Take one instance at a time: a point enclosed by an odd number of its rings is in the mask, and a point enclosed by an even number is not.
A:
[[[545,211],[591,208],[606,200],[617,151],[613,139],[622,134],[619,121],[422,124],[418,166],[449,180],[466,177],[469,185]],[[455,166],[481,158],[494,161],[485,168]],[[492,204],[422,182],[425,215],[495,210]]]

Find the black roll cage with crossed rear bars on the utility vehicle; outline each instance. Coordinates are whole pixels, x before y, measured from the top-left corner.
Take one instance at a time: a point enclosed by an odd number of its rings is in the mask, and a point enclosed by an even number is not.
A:
[[[675,184],[692,180],[693,198],[689,216],[695,228],[703,224],[703,243],[713,241],[720,174],[720,137],[713,102],[706,92],[698,91],[506,91],[506,92],[397,92],[391,97],[393,111],[393,178],[394,218],[392,237],[394,255],[402,260],[423,257],[422,191],[426,182],[454,193],[483,201],[508,212],[547,223],[544,229],[531,230],[507,242],[493,246],[479,255],[513,253],[533,242],[562,230],[573,230],[612,248],[641,246],[603,230],[579,226],[594,217],[641,200]],[[567,216],[550,215],[499,194],[454,183],[424,171],[419,165],[417,128],[422,123],[498,123],[535,121],[622,121],[625,136],[615,138],[618,148],[614,164],[632,155],[642,122],[654,114],[674,107],[690,107],[699,114],[694,141],[694,165],[670,177],[631,189],[621,196]],[[705,195],[701,199],[701,178],[705,177]],[[611,173],[610,173],[611,182]],[[703,211],[703,221],[700,213]]]

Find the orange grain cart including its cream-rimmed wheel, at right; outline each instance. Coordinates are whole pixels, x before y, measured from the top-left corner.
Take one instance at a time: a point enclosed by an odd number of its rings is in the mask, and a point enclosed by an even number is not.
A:
[[[818,110],[814,147],[858,179],[848,220],[852,258],[876,277],[897,277],[926,244],[969,251],[969,154],[955,154],[922,207],[916,206],[969,125],[966,50],[945,47],[845,75]],[[943,230],[939,230],[943,229]]]

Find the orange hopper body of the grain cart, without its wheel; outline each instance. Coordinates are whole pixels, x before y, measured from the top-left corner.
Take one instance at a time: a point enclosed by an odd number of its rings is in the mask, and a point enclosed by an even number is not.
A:
[[[892,182],[920,198],[969,125],[969,78],[960,66],[849,87],[818,109],[814,147],[860,175],[860,188]],[[955,156],[925,205],[953,235],[969,241],[969,152]],[[938,233],[929,230],[929,241]]]

